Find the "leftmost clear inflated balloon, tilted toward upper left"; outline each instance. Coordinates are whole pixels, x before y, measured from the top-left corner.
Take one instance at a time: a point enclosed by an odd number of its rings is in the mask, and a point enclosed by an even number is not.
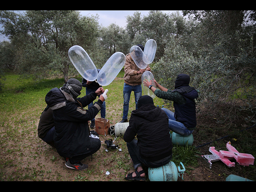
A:
[[[98,70],[86,51],[78,46],[72,46],[68,50],[68,57],[80,75],[88,81],[97,79]]]

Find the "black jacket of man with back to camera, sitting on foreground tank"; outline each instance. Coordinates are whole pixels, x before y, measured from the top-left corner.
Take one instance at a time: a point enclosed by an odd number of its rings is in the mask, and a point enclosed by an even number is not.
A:
[[[124,141],[131,142],[136,135],[141,157],[145,160],[157,161],[172,154],[168,116],[159,107],[145,104],[132,111]]]

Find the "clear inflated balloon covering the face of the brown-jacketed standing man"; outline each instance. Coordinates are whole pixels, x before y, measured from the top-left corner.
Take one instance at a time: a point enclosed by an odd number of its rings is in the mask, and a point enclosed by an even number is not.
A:
[[[148,64],[148,60],[146,55],[143,53],[143,51],[141,50],[141,48],[139,46],[132,46],[130,48],[130,55],[132,57],[132,59],[134,60],[134,63],[138,66],[138,68],[140,69],[145,69]],[[146,61],[146,62],[144,62]]]

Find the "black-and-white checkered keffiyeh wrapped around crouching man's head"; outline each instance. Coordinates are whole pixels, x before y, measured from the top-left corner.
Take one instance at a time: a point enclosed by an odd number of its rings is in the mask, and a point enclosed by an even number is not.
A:
[[[80,91],[82,90],[82,84],[77,79],[70,79],[62,86],[61,89],[75,99],[81,94]]]

